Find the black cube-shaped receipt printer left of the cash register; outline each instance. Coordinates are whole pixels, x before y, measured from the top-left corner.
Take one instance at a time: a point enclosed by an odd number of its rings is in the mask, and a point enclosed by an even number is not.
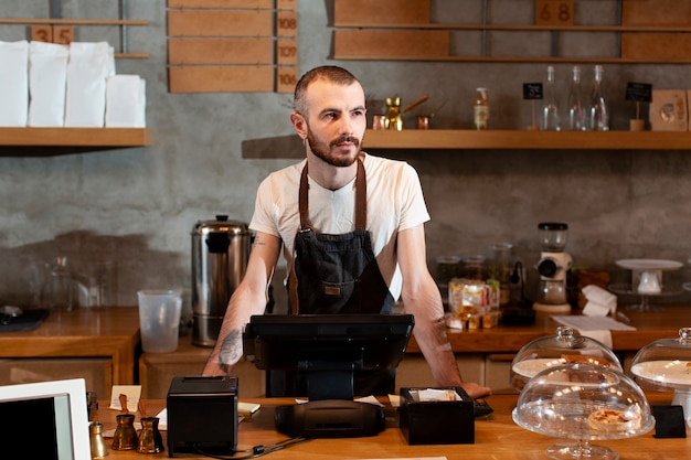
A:
[[[237,377],[173,377],[166,402],[168,456],[232,454],[237,446]]]

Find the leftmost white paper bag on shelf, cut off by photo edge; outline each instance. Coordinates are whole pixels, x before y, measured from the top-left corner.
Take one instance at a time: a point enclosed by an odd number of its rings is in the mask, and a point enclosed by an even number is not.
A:
[[[29,113],[29,42],[0,42],[0,126],[25,127]]]

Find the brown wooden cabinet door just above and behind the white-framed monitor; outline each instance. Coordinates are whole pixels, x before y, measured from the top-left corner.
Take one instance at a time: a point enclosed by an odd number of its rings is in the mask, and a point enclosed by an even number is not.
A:
[[[110,397],[113,362],[108,357],[18,357],[0,360],[0,385],[84,378],[86,391]]]

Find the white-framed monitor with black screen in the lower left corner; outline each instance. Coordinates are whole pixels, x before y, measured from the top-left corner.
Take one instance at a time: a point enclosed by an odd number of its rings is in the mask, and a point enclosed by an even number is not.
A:
[[[0,386],[2,457],[89,460],[83,378]]]

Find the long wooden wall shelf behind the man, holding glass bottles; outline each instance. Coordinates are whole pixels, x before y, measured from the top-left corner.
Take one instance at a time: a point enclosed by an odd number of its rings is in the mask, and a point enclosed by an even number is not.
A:
[[[663,131],[519,131],[408,129],[371,130],[364,136],[368,150],[691,150],[691,132]],[[296,135],[248,139],[243,158],[305,158]]]

